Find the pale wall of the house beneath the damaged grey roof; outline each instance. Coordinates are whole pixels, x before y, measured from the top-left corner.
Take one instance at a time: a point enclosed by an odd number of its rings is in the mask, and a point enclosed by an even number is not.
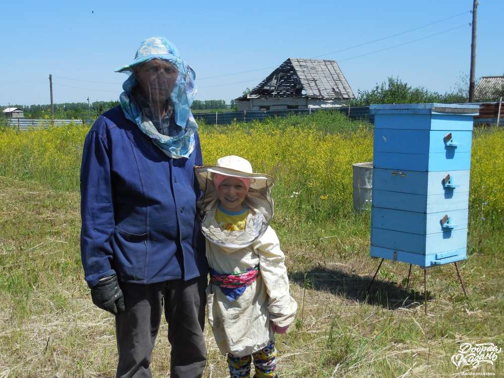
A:
[[[261,107],[269,107],[269,110],[281,110],[288,109],[289,106],[327,108],[346,104],[346,100],[320,100],[306,97],[250,98],[247,101],[238,101],[238,110],[261,110]]]

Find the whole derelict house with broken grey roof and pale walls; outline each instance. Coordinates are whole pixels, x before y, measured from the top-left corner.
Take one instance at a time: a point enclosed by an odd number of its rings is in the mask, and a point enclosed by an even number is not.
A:
[[[288,58],[236,99],[238,110],[338,107],[355,98],[336,60]]]

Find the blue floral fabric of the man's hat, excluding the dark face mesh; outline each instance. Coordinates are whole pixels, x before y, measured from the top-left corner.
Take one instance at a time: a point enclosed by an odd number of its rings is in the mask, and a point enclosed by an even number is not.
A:
[[[170,94],[175,110],[175,123],[180,127],[178,135],[165,136],[160,134],[152,122],[146,122],[142,112],[132,96],[132,89],[137,86],[134,68],[151,59],[169,61],[178,70],[177,81]],[[165,37],[151,37],[144,40],[138,48],[135,59],[115,72],[129,73],[130,77],[123,83],[124,92],[119,97],[124,115],[135,122],[138,127],[153,139],[153,142],[168,156],[173,158],[188,157],[194,150],[194,133],[198,125],[191,113],[191,105],[196,95],[196,74],[180,57],[177,47]]]

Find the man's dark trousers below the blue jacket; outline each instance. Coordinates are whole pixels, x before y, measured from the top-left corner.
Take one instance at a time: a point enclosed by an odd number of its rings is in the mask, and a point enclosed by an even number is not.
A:
[[[172,378],[199,378],[207,361],[205,288],[207,277],[149,285],[122,282],[125,311],[115,317],[117,378],[150,378],[151,354],[164,316],[171,344]],[[164,304],[163,304],[164,302]]]

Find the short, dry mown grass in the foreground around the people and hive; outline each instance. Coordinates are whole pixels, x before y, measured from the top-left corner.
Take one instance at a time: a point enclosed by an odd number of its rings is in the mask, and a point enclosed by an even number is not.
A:
[[[479,218],[478,218],[479,220]],[[471,221],[471,257],[460,264],[465,301],[453,266],[430,269],[428,316],[423,272],[386,262],[371,295],[377,261],[368,256],[368,214],[322,229],[277,220],[287,256],[296,323],[277,339],[283,377],[455,376],[450,357],[462,341],[504,346],[502,230]],[[113,377],[113,318],[95,307],[79,254],[79,195],[0,177],[0,377]],[[154,376],[169,376],[163,324]],[[227,377],[209,328],[207,378]],[[504,356],[477,372],[504,371]]]

